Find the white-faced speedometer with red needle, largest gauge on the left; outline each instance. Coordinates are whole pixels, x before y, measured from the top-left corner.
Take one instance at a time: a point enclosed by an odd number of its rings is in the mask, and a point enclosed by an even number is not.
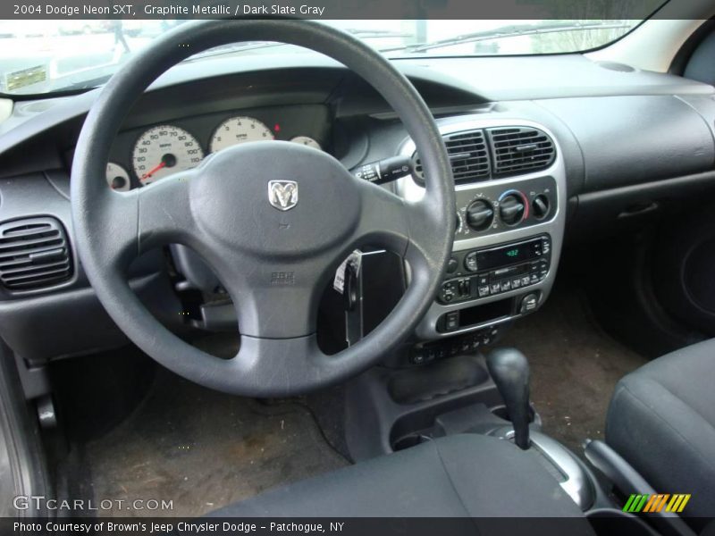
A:
[[[131,155],[134,172],[142,184],[196,167],[204,151],[186,130],[161,125],[144,132]]]

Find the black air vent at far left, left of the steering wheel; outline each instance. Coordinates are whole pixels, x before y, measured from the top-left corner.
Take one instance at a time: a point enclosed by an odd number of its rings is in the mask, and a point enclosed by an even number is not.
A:
[[[0,223],[0,285],[9,290],[52,287],[71,276],[62,224],[38,217]]]

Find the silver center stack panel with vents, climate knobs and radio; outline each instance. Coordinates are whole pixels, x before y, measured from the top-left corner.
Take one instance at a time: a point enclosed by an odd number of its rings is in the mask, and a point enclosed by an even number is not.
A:
[[[416,364],[449,356],[456,335],[494,339],[503,324],[542,306],[564,233],[566,173],[559,143],[543,125],[472,116],[440,130],[455,176],[457,222],[442,288],[416,328]],[[425,188],[411,140],[400,154],[415,159],[416,175],[400,180],[398,193],[418,200]]]

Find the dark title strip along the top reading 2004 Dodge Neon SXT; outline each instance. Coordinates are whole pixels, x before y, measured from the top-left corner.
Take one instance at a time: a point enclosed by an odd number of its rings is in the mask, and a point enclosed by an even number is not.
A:
[[[662,4],[663,0],[9,0],[0,3],[0,19],[291,16],[323,20],[643,20],[652,16]],[[669,17],[672,18],[672,14]]]

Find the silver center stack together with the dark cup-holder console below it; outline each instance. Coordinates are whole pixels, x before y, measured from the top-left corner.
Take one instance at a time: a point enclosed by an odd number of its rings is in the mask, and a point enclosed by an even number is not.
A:
[[[462,116],[440,123],[455,178],[450,262],[411,341],[385,366],[349,382],[346,436],[355,459],[508,427],[483,350],[543,306],[556,277],[567,200],[558,140],[524,120]],[[418,201],[425,188],[414,144],[406,141],[400,155],[413,159],[415,173],[397,182],[397,192]],[[538,432],[539,415],[532,411],[532,418]]]

